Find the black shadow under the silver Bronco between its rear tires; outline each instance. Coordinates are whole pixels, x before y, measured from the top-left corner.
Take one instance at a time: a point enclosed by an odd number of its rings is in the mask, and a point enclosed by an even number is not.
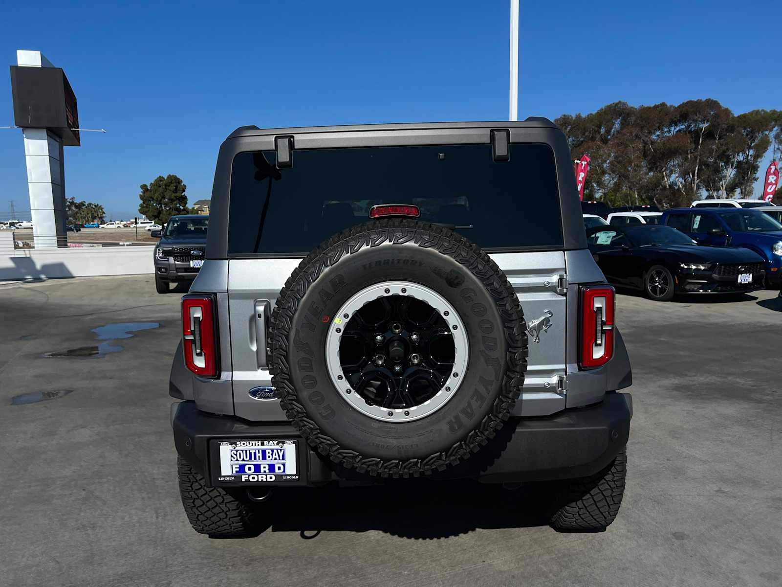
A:
[[[282,494],[282,492],[281,492]],[[378,530],[401,538],[433,539],[478,528],[547,524],[540,502],[524,488],[475,481],[403,480],[368,487],[286,489],[267,504],[276,519],[267,530],[316,538],[321,531]]]

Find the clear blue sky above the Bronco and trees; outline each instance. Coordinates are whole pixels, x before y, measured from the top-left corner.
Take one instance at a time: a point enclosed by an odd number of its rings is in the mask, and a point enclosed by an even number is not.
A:
[[[736,113],[782,103],[778,16],[720,0],[521,5],[522,118],[619,99],[711,97]],[[66,71],[81,126],[106,128],[66,147],[66,195],[113,218],[136,214],[138,185],[157,175],[183,178],[191,203],[210,197],[217,149],[243,124],[508,117],[508,0],[0,0],[0,13],[0,63],[40,50]],[[29,207],[18,129],[0,130],[0,218],[9,200]]]

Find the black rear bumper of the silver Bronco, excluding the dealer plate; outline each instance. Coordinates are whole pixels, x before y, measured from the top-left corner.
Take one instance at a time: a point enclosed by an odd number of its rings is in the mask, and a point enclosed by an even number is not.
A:
[[[477,455],[430,478],[476,478],[485,483],[504,483],[586,477],[611,463],[626,445],[632,416],[632,396],[613,392],[606,394],[600,404],[586,408],[568,409],[554,416],[511,419]],[[321,459],[288,422],[249,423],[201,412],[194,402],[178,402],[171,406],[171,423],[177,452],[213,486],[372,481],[371,477]],[[300,476],[296,481],[243,484],[218,479],[218,441],[264,439],[299,441]]]

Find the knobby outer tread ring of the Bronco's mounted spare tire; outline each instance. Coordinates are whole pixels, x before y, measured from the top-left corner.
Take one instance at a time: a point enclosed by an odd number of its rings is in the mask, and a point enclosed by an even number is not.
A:
[[[304,294],[317,277],[342,257],[355,254],[364,247],[377,247],[383,243],[392,245],[414,243],[418,247],[432,248],[465,266],[468,271],[482,280],[486,290],[493,297],[504,322],[504,333],[508,344],[506,373],[501,382],[500,394],[493,402],[490,412],[474,430],[465,438],[455,442],[447,451],[436,452],[419,459],[383,461],[341,447],[307,416],[291,383],[289,364],[286,360],[292,317]],[[280,404],[293,426],[299,430],[310,446],[332,462],[341,463],[346,468],[372,476],[418,477],[421,474],[431,474],[435,470],[445,470],[447,466],[467,459],[486,445],[508,420],[524,385],[528,355],[526,330],[521,304],[508,278],[475,243],[457,232],[426,222],[400,218],[370,221],[346,229],[325,240],[301,261],[285,282],[274,305],[270,333],[267,337],[269,340],[267,350],[271,357],[271,384],[277,389]]]

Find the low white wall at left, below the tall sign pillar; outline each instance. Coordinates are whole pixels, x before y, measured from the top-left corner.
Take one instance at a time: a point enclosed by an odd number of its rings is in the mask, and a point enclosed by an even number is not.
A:
[[[0,232],[0,281],[59,279],[95,275],[151,274],[155,247],[9,249],[11,231]]]

